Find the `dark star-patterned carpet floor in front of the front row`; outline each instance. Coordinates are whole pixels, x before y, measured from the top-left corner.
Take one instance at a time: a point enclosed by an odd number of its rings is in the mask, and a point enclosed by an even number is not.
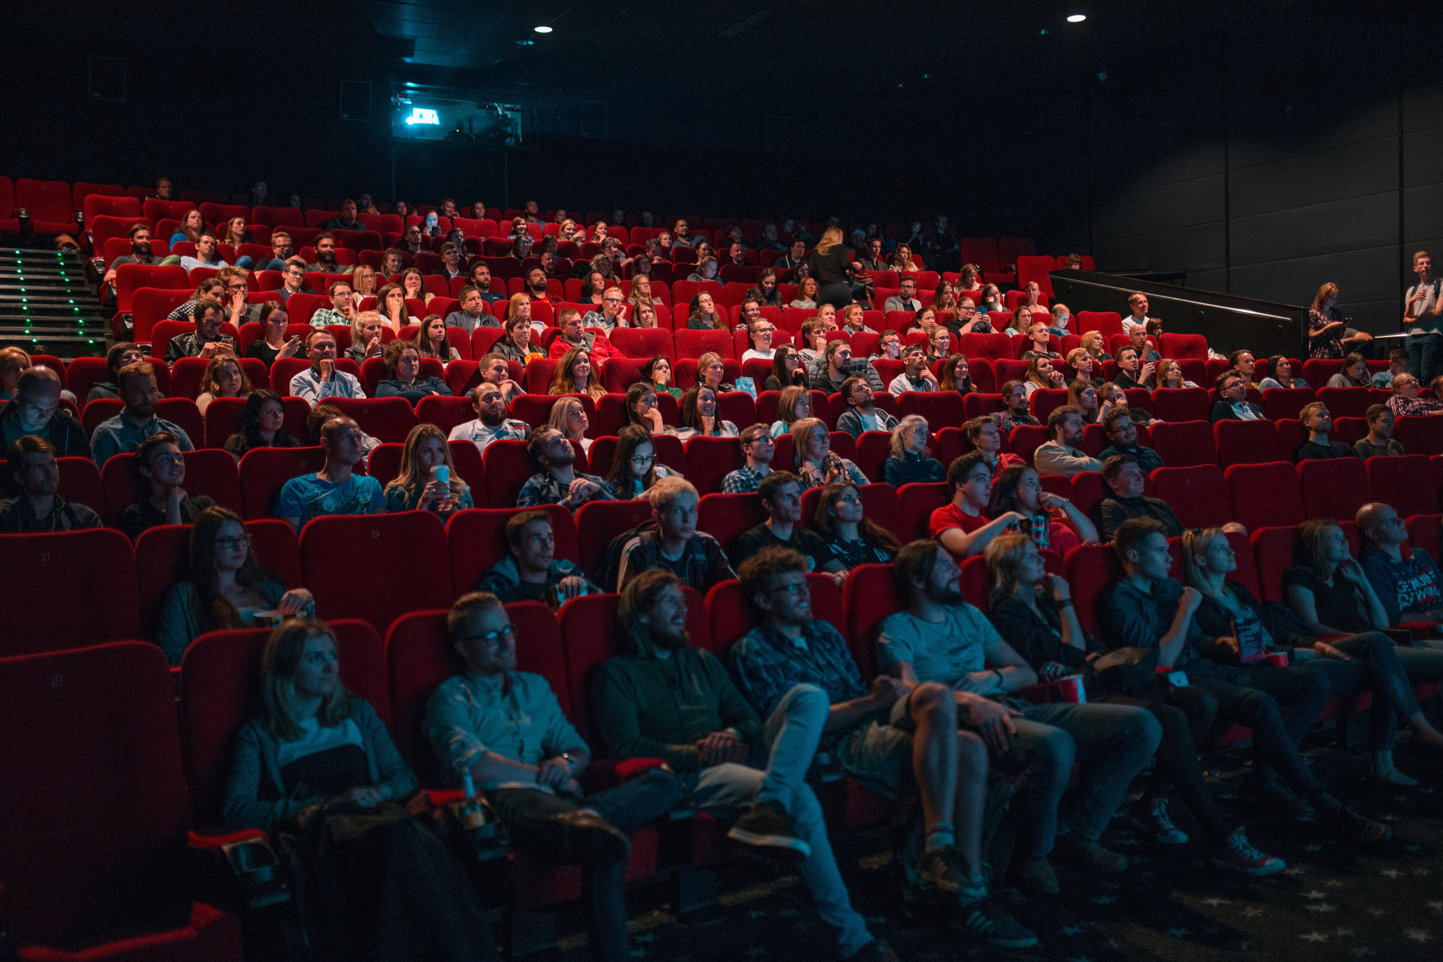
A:
[[[1335,842],[1312,819],[1260,811],[1251,798],[1234,792],[1248,770],[1248,751],[1211,756],[1209,782],[1225,811],[1247,824],[1263,851],[1286,860],[1287,870],[1254,880],[1214,868],[1201,844],[1170,847],[1141,838],[1124,805],[1102,842],[1133,861],[1127,873],[1097,877],[1055,861],[1062,894],[1001,893],[1017,919],[1042,937],[1026,950],[973,943],[912,917],[896,865],[877,848],[879,842],[885,848],[885,839],[873,842],[870,855],[861,851],[869,848],[861,839],[834,838],[834,845],[846,855],[854,904],[903,959],[1443,959],[1443,753],[1400,736],[1398,767],[1420,779],[1411,789],[1368,779],[1364,751],[1326,746],[1309,750],[1307,757],[1345,803],[1392,825],[1392,841],[1358,851]],[[1176,802],[1173,812],[1196,838],[1190,816]],[[632,922],[632,956],[658,962],[834,956],[831,933],[795,878],[746,861],[726,874],[722,891],[724,904],[706,923],[683,923],[667,906],[645,907]],[[550,955],[580,962],[587,958],[584,937],[564,939]]]

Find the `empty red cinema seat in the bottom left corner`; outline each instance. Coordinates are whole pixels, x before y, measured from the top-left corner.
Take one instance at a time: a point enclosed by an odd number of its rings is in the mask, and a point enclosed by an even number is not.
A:
[[[240,922],[185,884],[190,793],[160,649],[0,659],[0,910],[20,958],[240,962]]]

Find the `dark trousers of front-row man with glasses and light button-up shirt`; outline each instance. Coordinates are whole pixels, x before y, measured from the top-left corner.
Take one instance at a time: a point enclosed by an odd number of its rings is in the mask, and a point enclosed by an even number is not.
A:
[[[556,852],[545,851],[547,841],[554,838],[544,831],[551,816],[589,808],[629,835],[671,811],[681,798],[681,783],[670,772],[652,769],[615,789],[590,795],[580,803],[534,789],[499,789],[486,796],[519,851],[556,858]],[[626,943],[626,893],[622,887],[625,871],[625,858],[605,865],[582,865],[582,891],[590,907],[587,935],[592,958],[599,962],[625,962],[631,958]]]

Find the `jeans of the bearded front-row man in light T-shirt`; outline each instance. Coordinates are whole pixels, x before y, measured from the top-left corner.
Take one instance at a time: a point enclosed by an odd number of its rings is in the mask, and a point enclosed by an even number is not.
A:
[[[1013,724],[1017,734],[1007,737],[1012,747],[996,763],[1022,775],[1017,845],[1033,858],[1052,851],[1059,824],[1097,841],[1162,740],[1157,720],[1134,705],[1059,701],[1032,705]],[[1071,779],[1074,764],[1078,775]]]

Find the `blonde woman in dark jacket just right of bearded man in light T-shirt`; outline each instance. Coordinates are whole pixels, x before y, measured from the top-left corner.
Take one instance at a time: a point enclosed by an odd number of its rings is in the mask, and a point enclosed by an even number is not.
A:
[[[1068,583],[1048,574],[1032,538],[999,535],[987,545],[984,557],[993,578],[987,607],[1001,639],[1043,682],[1079,674],[1088,656],[1101,649],[1078,620]],[[1198,763],[1198,744],[1206,740],[1216,715],[1216,701],[1211,695],[1195,688],[1154,685],[1136,698],[1088,692],[1088,701],[1137,705],[1162,725],[1157,764],[1143,789],[1146,813],[1137,819],[1156,841],[1169,845],[1188,841],[1167,815],[1167,796],[1176,789],[1214,845],[1215,865],[1254,877],[1286,867],[1281,860],[1253,848],[1241,826],[1229,828],[1208,790]]]

